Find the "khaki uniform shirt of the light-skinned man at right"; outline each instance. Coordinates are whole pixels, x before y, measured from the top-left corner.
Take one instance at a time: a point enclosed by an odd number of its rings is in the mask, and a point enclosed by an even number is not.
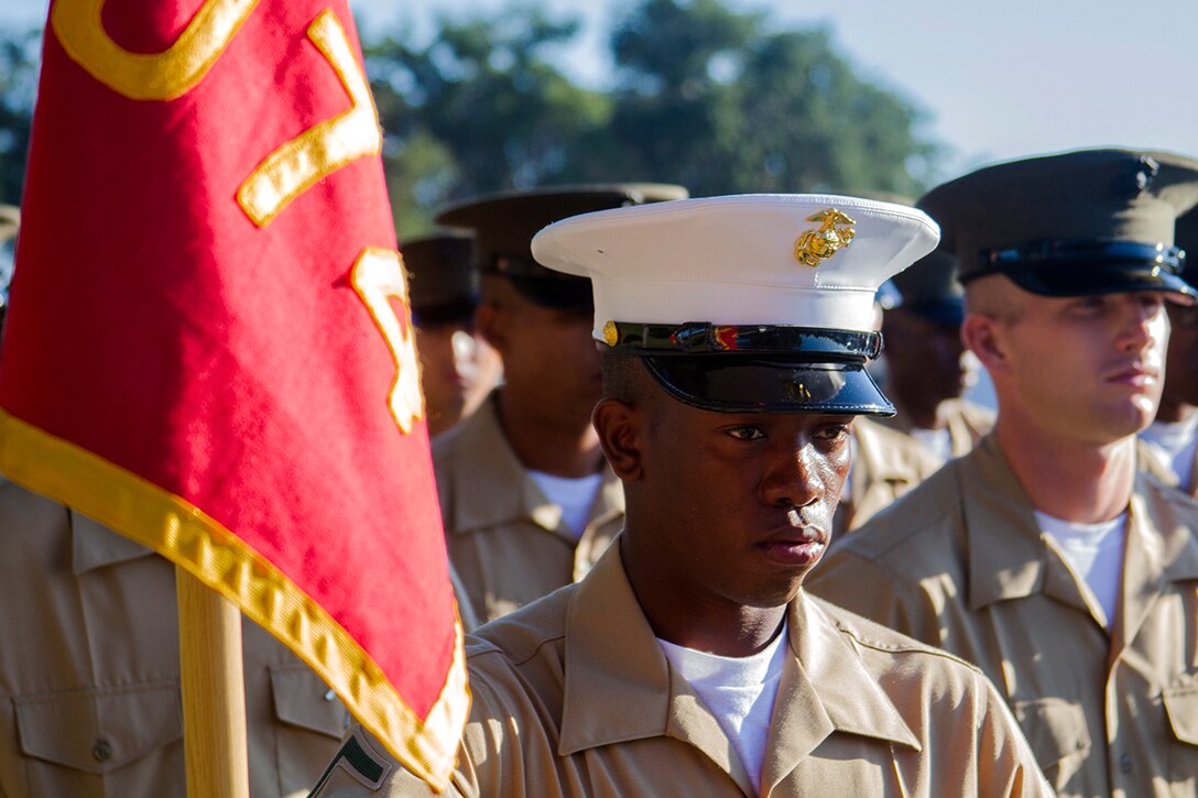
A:
[[[1111,631],[996,441],[830,552],[810,590],[980,666],[1063,796],[1198,794],[1198,503],[1137,474]]]

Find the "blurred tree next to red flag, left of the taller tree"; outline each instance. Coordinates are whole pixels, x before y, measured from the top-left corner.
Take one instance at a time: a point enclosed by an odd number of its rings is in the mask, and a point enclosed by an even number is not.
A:
[[[610,98],[582,89],[547,53],[574,38],[576,19],[534,6],[441,19],[424,48],[394,37],[367,49],[387,132],[401,236],[449,199],[579,180],[582,143],[611,116]],[[393,195],[393,199],[397,198]],[[403,202],[411,200],[418,214]]]

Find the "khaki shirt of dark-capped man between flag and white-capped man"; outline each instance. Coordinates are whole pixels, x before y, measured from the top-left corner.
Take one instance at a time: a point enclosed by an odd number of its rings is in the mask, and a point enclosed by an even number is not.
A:
[[[446,544],[480,623],[582,579],[624,526],[624,490],[604,478],[582,537],[503,436],[495,397],[432,442]]]

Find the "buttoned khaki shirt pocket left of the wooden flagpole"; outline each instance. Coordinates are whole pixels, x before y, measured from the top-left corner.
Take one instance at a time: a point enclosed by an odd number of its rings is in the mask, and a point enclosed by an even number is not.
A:
[[[13,700],[20,751],[34,794],[87,794],[75,785],[98,784],[135,762],[161,772],[177,757],[182,767],[183,711],[179,684],[69,690]],[[122,781],[132,770],[122,773]],[[69,792],[61,792],[67,787]]]

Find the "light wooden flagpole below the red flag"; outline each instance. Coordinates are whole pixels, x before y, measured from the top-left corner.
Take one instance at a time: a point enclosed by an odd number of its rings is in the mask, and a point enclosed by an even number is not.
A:
[[[249,798],[241,612],[175,567],[183,756],[190,798]]]

